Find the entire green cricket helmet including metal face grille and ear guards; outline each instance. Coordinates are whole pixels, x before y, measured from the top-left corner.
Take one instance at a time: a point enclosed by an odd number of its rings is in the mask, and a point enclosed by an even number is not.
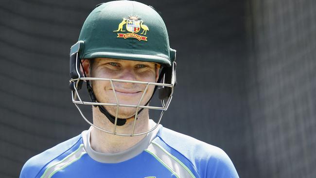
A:
[[[158,63],[162,67],[158,83],[88,78],[85,76],[85,72],[82,73],[80,70],[80,65],[82,65],[81,59],[93,59],[97,57]],[[169,46],[167,28],[153,7],[129,0],[117,0],[99,4],[84,22],[78,42],[70,48],[70,89],[72,102],[90,125],[93,124],[85,118],[78,104],[99,107],[100,111],[105,114],[106,118],[115,127],[116,125],[124,125],[126,119],[118,118],[117,115],[111,115],[103,106],[116,106],[117,108],[136,107],[134,125],[137,115],[142,109],[159,109],[161,110],[160,122],[163,111],[167,110],[170,104],[173,89],[176,85],[175,59],[176,50],[171,49]],[[160,83],[162,79],[163,81]],[[155,90],[158,88],[158,97],[161,100],[162,107],[147,106],[151,98],[144,106],[124,106],[118,102],[99,103],[94,96],[91,83],[89,82],[91,80],[141,83],[147,85],[147,87],[154,85]],[[79,96],[78,90],[82,88],[83,81],[87,82],[91,102],[84,102]],[[96,125],[93,126],[105,132],[123,136],[141,135],[153,130],[151,129],[143,133],[133,133],[133,128],[131,134],[120,134],[116,133],[115,129],[108,131]]]

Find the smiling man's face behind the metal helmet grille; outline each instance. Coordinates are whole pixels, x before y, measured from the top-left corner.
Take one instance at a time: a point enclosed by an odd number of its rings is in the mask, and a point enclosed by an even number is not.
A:
[[[110,58],[96,58],[90,67],[90,77],[132,80],[141,82],[157,82],[158,67],[152,62],[120,60]],[[120,104],[138,105],[146,88],[144,84],[114,82],[114,90]],[[149,86],[140,102],[144,106],[153,94],[155,86]],[[92,89],[100,103],[117,103],[109,81],[92,81]],[[112,115],[116,115],[116,107],[105,107]],[[119,118],[134,116],[136,108],[120,107]]]

